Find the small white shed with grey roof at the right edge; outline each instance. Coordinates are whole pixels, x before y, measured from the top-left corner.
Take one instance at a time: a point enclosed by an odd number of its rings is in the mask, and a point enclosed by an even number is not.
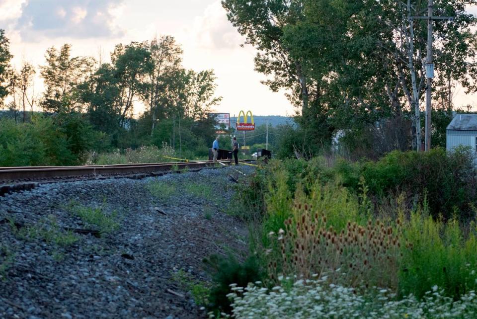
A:
[[[470,146],[477,151],[477,114],[457,114],[447,126],[446,133],[447,151],[459,145]]]

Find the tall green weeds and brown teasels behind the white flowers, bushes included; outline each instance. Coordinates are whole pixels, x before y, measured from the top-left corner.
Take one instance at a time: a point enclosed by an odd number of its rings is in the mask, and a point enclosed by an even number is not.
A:
[[[466,186],[475,178],[472,157],[434,155],[393,153],[374,164],[337,161],[334,167],[272,161],[258,172],[261,178],[252,177],[254,197],[251,187],[239,191],[244,201],[253,200],[243,207],[259,216],[250,227],[252,252],[272,281],[329,273],[340,285],[381,286],[418,298],[436,286],[452,298],[477,289],[477,229],[470,222],[476,197]],[[461,200],[448,186],[438,190],[432,178],[449,180],[468,196]]]

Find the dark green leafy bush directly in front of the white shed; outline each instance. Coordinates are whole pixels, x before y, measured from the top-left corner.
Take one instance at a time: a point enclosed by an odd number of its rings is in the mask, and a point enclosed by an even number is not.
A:
[[[392,152],[377,162],[366,162],[359,169],[372,194],[383,197],[389,192],[418,195],[421,203],[427,194],[433,217],[461,218],[472,213],[477,200],[477,176],[473,156],[468,149],[453,153],[437,148],[429,152]],[[355,186],[354,186],[355,187]]]

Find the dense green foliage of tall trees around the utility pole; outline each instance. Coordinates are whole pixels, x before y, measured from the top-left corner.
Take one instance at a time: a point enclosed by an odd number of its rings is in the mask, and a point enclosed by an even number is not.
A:
[[[427,22],[407,16],[422,15],[426,1],[409,1],[409,10],[406,3],[374,0],[222,4],[246,43],[257,49],[255,69],[268,76],[264,83],[274,91],[287,89],[300,107],[298,122],[309,132],[310,143],[329,144],[335,129],[363,130],[400,116],[413,120],[416,136],[419,112],[414,109],[425,89]],[[476,90],[470,79],[477,65],[469,62],[476,58],[470,30],[477,20],[466,11],[467,4],[434,3],[435,14],[455,17],[454,22],[435,22],[440,75],[434,81],[435,96],[447,96],[449,86],[457,83]]]

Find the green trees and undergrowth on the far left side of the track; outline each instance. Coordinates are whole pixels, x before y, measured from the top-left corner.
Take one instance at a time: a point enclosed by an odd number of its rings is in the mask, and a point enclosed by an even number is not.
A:
[[[215,96],[213,70],[182,66],[173,37],[118,44],[110,63],[71,51],[70,44],[46,51],[38,95],[35,66],[24,62],[17,71],[10,65],[9,40],[0,29],[0,107],[8,109],[0,114],[0,166],[208,156],[216,135],[208,113],[222,97]],[[133,118],[137,102],[145,111]]]

